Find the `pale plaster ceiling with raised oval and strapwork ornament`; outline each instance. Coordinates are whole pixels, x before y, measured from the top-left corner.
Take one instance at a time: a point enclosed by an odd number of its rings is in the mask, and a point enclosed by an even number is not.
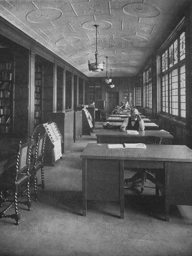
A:
[[[139,73],[177,23],[187,0],[2,0],[1,16],[87,76],[94,62],[98,24],[99,61],[113,76]],[[105,70],[106,71],[106,70]],[[105,71],[97,73],[103,76]]]

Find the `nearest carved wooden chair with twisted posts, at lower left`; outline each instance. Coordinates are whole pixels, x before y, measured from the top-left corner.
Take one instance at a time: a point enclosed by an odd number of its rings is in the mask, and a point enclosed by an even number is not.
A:
[[[0,218],[12,218],[17,225],[20,220],[18,203],[26,205],[28,210],[31,210],[29,191],[31,143],[30,140],[21,145],[20,141],[16,164],[8,168],[0,176],[0,206],[2,206],[3,202],[9,202],[9,205],[0,212]],[[23,189],[23,187],[27,190],[27,201],[18,201],[19,189]],[[7,210],[12,206],[14,206],[15,213],[7,215]]]

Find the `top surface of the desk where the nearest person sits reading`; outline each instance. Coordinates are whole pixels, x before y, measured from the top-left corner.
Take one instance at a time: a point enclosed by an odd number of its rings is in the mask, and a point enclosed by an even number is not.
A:
[[[172,139],[173,136],[164,130],[149,130],[139,131],[139,134],[127,134],[119,130],[99,130],[95,135],[96,137],[145,137],[145,136],[158,136],[166,139]]]

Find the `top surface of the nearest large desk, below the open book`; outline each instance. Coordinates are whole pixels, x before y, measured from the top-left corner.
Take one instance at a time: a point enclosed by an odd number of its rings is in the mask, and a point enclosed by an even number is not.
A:
[[[146,149],[108,148],[107,144],[89,143],[80,158],[192,163],[192,149],[185,145],[146,145]]]

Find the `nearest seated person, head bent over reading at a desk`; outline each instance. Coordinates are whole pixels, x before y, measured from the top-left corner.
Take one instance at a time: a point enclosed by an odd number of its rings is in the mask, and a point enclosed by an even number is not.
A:
[[[131,117],[126,118],[120,127],[120,130],[122,132],[125,132],[126,130],[137,130],[137,131],[144,131],[145,130],[145,125],[144,121],[138,114],[139,111],[137,108],[134,108],[134,110],[131,113]]]

